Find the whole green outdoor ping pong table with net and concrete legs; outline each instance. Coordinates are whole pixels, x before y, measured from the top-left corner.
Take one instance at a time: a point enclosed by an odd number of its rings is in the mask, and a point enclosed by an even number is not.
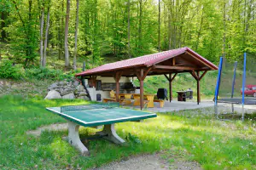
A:
[[[118,122],[137,122],[143,119],[156,117],[154,113],[134,111],[119,108],[119,103],[104,103],[93,105],[69,105],[62,107],[49,107],[51,111],[67,119],[69,144],[77,148],[82,155],[89,155],[89,150],[84,146],[79,138],[79,126],[97,127],[102,126],[103,130],[98,132],[98,136],[108,139],[115,144],[125,143],[115,132],[114,123]]]

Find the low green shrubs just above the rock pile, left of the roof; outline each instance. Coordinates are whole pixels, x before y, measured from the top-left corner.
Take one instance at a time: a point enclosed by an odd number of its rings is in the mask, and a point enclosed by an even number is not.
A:
[[[74,77],[74,71],[64,73],[61,70],[54,70],[49,68],[31,68],[26,69],[25,76],[26,78],[38,79],[38,80],[64,80],[71,79]]]

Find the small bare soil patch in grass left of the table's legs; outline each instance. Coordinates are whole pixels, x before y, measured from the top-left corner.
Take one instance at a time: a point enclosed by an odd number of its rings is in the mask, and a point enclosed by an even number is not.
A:
[[[51,124],[44,127],[38,127],[36,130],[27,131],[26,134],[32,134],[33,136],[38,137],[45,130],[58,131],[58,130],[65,130],[65,129],[67,129],[67,123],[58,123],[58,124]]]

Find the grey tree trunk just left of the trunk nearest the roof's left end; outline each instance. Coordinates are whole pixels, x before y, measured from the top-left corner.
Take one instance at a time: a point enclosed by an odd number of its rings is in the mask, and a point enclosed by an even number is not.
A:
[[[70,0],[67,0],[67,11],[66,11],[66,23],[65,23],[65,40],[64,40],[64,48],[65,48],[65,67],[69,67],[69,54],[68,54],[68,21],[69,21],[69,11],[70,11]]]

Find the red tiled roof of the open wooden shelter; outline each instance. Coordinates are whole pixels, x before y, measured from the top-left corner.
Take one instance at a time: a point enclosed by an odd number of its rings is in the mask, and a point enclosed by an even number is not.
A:
[[[92,75],[100,72],[115,71],[115,70],[121,70],[125,68],[137,67],[137,66],[156,65],[163,60],[171,59],[185,52],[189,52],[190,54],[193,54],[197,59],[203,61],[206,65],[210,65],[212,67],[212,70],[218,70],[218,67],[216,65],[213,65],[210,61],[203,58],[200,54],[195,53],[195,51],[193,51],[190,48],[184,47],[184,48],[172,49],[169,51],[164,51],[156,54],[148,54],[148,55],[144,55],[142,57],[137,57],[133,59],[125,59],[125,60],[117,61],[114,63],[109,63],[106,65],[101,65],[96,68],[90,69],[88,71],[83,71],[81,73],[78,73],[75,76],[76,77],[86,76],[86,75]]]

